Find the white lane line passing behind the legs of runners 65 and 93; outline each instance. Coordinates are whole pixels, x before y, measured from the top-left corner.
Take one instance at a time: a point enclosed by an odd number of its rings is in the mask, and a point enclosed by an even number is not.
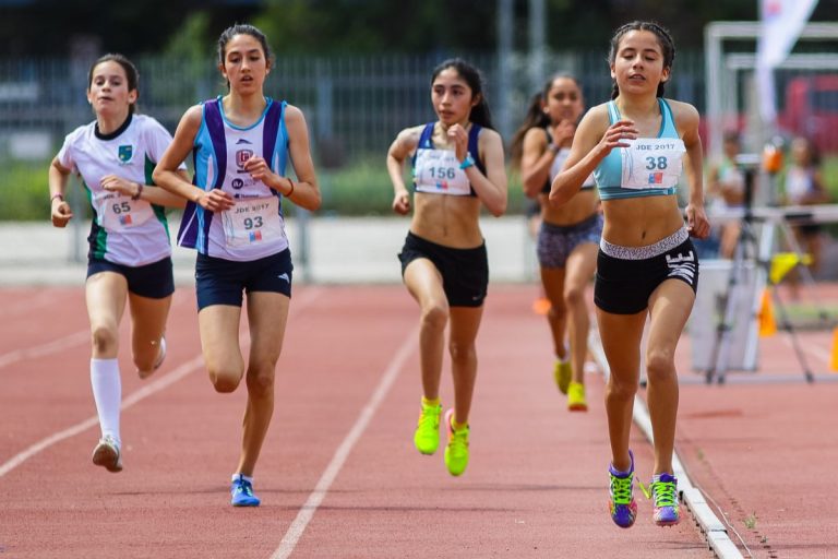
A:
[[[320,296],[320,293],[321,293],[321,289],[318,289],[318,288],[311,288],[303,292],[303,294],[299,297],[299,299],[302,299],[302,300],[298,300],[294,305],[295,312],[299,312],[303,310],[306,307],[308,307],[309,305],[311,305],[312,302],[314,302]],[[87,332],[85,332],[85,335],[87,335]],[[242,350],[246,349],[247,346],[250,345],[250,340],[246,341],[241,345],[242,345]],[[124,397],[122,400],[122,405],[120,406],[120,409],[125,411],[130,408],[131,406],[133,406],[139,402],[142,402],[146,397],[154,395],[164,389],[167,389],[171,384],[187,377],[189,373],[194,372],[197,369],[202,369],[203,366],[204,366],[203,355],[199,354],[196,357],[193,357],[192,359],[184,362],[180,367],[176,368],[168,374],[165,374],[152,381],[151,383],[146,384],[145,386],[141,388],[140,390],[132,392],[128,397]],[[19,452],[7,462],[0,464],[0,478],[7,475],[9,472],[16,468],[17,466],[20,466],[21,464],[23,464],[24,462],[26,462],[27,460],[29,460],[32,456],[48,449],[49,447],[58,442],[61,442],[65,439],[69,439],[70,437],[74,437],[97,425],[99,425],[99,419],[97,416],[88,417],[87,419],[80,421],[71,427],[68,427],[64,430],[58,431],[45,439],[41,439],[35,444],[23,450],[22,452]]]

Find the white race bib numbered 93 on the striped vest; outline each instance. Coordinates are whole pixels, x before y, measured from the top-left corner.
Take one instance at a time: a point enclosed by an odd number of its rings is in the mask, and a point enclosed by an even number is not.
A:
[[[222,223],[228,247],[248,247],[285,237],[277,197],[237,199],[235,206],[222,212]]]

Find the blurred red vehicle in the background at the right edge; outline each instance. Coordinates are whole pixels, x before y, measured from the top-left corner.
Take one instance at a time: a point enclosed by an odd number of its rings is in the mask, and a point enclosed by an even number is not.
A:
[[[838,152],[838,74],[789,81],[778,123],[789,134],[811,139],[822,153]]]

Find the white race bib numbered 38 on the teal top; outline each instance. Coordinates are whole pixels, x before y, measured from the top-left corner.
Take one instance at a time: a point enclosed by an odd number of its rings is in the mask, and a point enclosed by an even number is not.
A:
[[[625,140],[621,147],[623,159],[622,188],[636,190],[672,188],[678,185],[686,153],[684,142],[671,138],[638,138]]]

